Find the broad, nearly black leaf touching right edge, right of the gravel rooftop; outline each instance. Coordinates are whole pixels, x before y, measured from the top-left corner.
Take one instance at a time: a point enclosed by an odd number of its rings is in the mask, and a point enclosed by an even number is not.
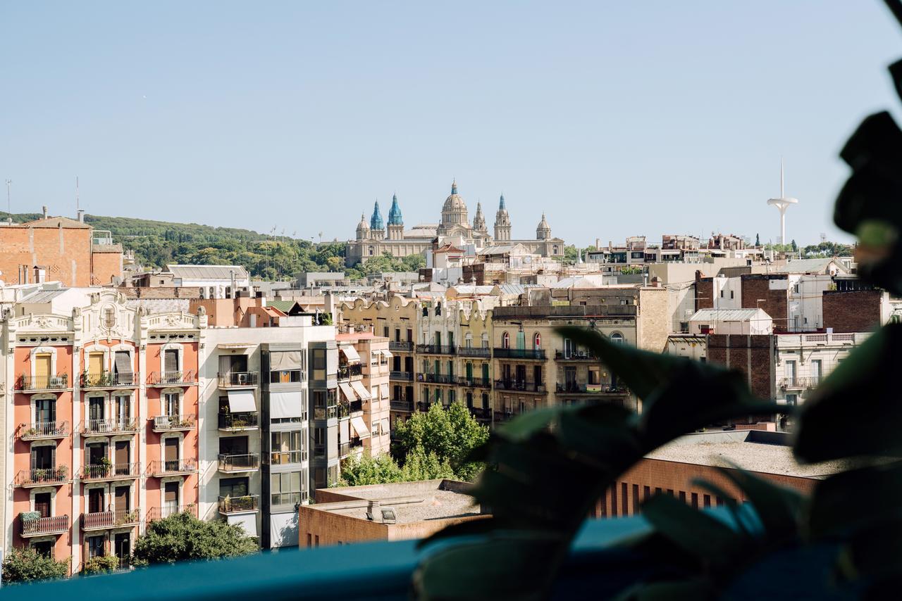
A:
[[[892,376],[900,360],[902,323],[883,327],[851,351],[802,406],[796,457],[825,461],[899,449],[902,387]]]

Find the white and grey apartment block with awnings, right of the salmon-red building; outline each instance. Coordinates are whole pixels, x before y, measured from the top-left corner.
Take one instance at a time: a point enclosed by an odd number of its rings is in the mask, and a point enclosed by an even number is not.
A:
[[[241,524],[264,549],[297,544],[296,505],[327,485],[327,472],[337,478],[334,339],[335,328],[313,325],[311,315],[285,317],[278,327],[207,329],[204,519]]]

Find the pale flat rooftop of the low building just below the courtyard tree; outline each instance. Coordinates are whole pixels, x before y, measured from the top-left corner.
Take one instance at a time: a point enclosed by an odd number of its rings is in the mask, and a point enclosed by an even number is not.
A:
[[[332,496],[347,500],[309,505],[318,511],[347,515],[366,520],[369,501],[379,501],[382,508],[394,509],[396,524],[412,524],[428,520],[480,515],[479,504],[465,492],[469,485],[455,480],[422,480],[396,482],[366,487],[328,488]]]

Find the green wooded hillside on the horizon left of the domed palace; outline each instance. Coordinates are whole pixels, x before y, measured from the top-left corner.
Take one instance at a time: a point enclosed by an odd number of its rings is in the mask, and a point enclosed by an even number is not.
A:
[[[9,214],[0,212],[0,219]],[[13,214],[23,223],[40,219],[41,214]],[[345,269],[345,242],[314,244],[306,240],[271,236],[239,228],[212,227],[198,223],[170,223],[131,217],[85,215],[95,230],[113,232],[113,240],[133,250],[135,260],[145,268],[161,268],[166,263],[194,265],[242,265],[253,278],[288,279],[301,271],[346,271],[351,277],[377,271],[419,269],[420,256],[404,260],[378,258],[358,269]]]

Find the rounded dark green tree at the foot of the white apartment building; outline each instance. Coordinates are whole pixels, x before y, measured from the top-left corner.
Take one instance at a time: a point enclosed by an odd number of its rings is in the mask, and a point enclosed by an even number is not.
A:
[[[204,522],[187,513],[170,515],[147,527],[134,543],[135,565],[211,560],[260,550],[257,539],[241,526]]]

